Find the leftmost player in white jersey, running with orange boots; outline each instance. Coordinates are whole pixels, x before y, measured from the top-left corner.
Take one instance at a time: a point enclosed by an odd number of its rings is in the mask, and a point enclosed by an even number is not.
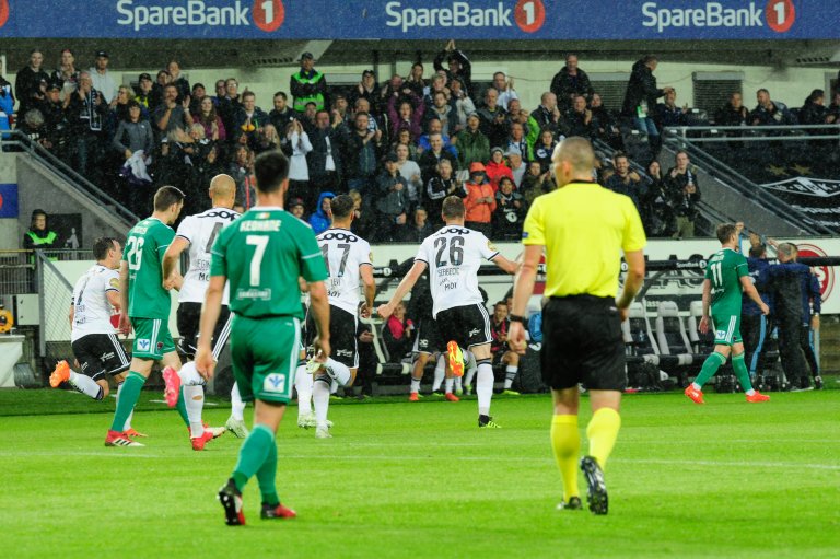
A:
[[[108,395],[107,375],[117,382],[119,397],[130,364],[110,322],[119,311],[118,270],[122,247],[116,238],[100,237],[93,242],[93,257],[96,264],[75,282],[70,302],[70,341],[81,373],[73,371],[67,361],[60,361],[49,376],[49,384],[57,388],[67,382],[85,396],[102,400]],[[131,429],[131,416],[124,431],[130,436],[145,436]]]

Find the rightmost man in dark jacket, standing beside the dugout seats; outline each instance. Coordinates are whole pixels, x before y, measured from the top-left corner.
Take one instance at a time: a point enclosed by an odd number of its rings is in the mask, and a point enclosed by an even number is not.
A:
[[[774,322],[779,328],[779,357],[788,382],[807,388],[810,381],[800,347],[800,331],[803,321],[803,277],[809,278],[810,268],[795,261],[795,245],[781,243],[778,251],[779,264],[762,270],[757,286],[773,296]]]

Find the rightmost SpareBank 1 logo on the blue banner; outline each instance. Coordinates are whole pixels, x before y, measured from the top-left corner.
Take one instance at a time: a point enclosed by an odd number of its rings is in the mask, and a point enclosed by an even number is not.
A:
[[[670,28],[692,27],[769,27],[785,33],[796,20],[792,0],[769,0],[765,9],[758,2],[727,8],[722,2],[705,2],[696,8],[661,7],[658,2],[642,4],[642,25],[656,33]]]

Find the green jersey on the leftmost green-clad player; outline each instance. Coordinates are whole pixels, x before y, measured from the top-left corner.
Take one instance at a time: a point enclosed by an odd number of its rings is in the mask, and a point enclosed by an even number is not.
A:
[[[145,218],[131,228],[122,249],[128,263],[128,315],[170,319],[172,296],[163,289],[163,255],[175,231],[158,218]]]

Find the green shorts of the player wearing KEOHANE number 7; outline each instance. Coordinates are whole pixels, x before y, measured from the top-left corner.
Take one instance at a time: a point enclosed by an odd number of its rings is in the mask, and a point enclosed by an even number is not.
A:
[[[231,325],[231,357],[242,399],[288,404],[292,399],[300,350],[298,318],[235,316]]]

